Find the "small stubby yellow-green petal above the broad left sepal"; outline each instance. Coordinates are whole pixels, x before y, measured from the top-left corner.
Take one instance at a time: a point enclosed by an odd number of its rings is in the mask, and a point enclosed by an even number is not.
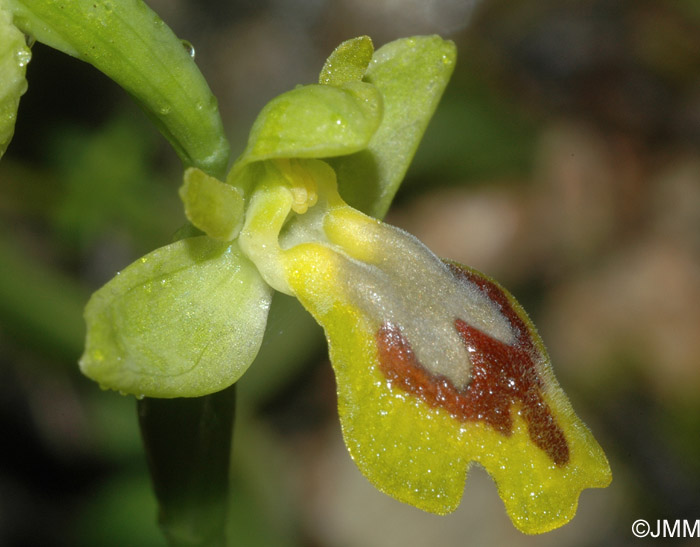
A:
[[[185,170],[180,198],[187,219],[209,237],[232,241],[241,231],[244,199],[238,188],[190,167]]]

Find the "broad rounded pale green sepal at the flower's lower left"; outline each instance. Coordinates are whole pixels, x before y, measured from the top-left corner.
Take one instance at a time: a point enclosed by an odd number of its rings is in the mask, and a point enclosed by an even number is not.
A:
[[[219,391],[255,358],[271,292],[235,243],[202,236],[162,247],[92,296],[80,367],[139,397]]]

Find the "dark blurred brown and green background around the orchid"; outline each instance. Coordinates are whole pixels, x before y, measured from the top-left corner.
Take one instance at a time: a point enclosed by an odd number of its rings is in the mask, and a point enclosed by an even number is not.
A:
[[[238,152],[341,41],[454,40],[388,221],[519,298],[613,469],[538,537],[478,468],[453,515],[390,499],[344,449],[319,328],[277,297],[239,388],[237,545],[627,545],[636,519],[700,518],[700,3],[148,4],[194,45]],[[0,162],[0,544],[164,545],[135,402],[77,360],[90,293],[184,222],[181,167],[90,66],[36,44],[27,76]]]

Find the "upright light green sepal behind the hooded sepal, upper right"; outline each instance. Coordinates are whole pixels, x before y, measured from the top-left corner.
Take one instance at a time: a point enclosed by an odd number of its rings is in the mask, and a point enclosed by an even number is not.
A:
[[[343,198],[382,217],[403,180],[447,82],[455,45],[439,36],[396,40],[378,49],[364,81],[376,86],[384,115],[368,147],[330,160]]]

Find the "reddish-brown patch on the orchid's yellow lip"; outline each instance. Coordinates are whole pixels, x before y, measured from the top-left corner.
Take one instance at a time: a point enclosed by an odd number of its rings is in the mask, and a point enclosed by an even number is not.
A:
[[[510,323],[516,340],[506,344],[455,318],[471,359],[471,379],[462,389],[448,378],[429,372],[416,358],[401,329],[385,323],[376,333],[379,368],[392,385],[419,397],[431,407],[447,410],[462,422],[480,421],[495,431],[513,433],[511,409],[518,404],[532,442],[559,466],[569,461],[569,446],[542,396],[542,379],[535,363],[541,358],[525,321],[495,283],[448,263],[455,277],[475,284]]]

